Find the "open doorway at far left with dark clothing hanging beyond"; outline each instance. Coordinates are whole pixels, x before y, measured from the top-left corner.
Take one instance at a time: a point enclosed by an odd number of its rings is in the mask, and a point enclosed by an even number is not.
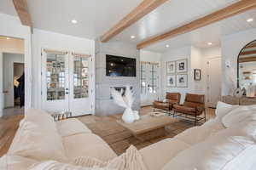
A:
[[[24,40],[0,37],[0,48],[0,116],[23,114],[25,105],[25,76],[22,78],[25,69]],[[20,88],[22,83],[23,88]],[[17,89],[20,89],[19,94]]]

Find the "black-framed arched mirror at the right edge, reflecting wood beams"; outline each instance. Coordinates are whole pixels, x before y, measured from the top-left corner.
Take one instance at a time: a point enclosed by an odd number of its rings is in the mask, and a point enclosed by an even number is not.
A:
[[[237,58],[237,86],[247,89],[256,85],[256,40],[241,49]]]

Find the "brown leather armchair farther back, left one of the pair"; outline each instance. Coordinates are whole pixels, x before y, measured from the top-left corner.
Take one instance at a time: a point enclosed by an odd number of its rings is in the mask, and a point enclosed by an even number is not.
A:
[[[156,109],[164,110],[164,111],[172,111],[172,105],[179,105],[180,102],[179,93],[166,93],[166,102],[163,101],[154,101],[153,107],[154,111]]]

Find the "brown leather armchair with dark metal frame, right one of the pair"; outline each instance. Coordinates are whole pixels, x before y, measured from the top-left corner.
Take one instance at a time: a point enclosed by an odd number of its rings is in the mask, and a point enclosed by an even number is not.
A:
[[[173,105],[172,110],[174,111],[174,116],[184,116],[187,118],[192,118],[196,122],[202,119],[207,121],[206,111],[205,111],[205,95],[199,94],[186,94],[185,101],[183,105]],[[177,115],[177,113],[180,113]],[[203,117],[200,117],[204,113]]]

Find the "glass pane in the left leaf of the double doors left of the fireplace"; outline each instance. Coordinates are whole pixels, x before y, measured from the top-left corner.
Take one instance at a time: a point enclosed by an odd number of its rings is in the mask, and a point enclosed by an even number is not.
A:
[[[65,56],[47,54],[47,100],[65,99]]]

